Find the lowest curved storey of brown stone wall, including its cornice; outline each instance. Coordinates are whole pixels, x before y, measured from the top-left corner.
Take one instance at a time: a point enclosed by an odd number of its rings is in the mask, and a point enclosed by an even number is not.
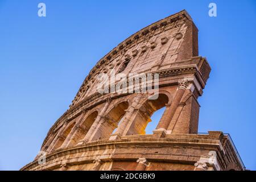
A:
[[[223,143],[223,144],[222,144]],[[130,135],[117,140],[96,140],[80,147],[66,148],[47,156],[46,164],[37,161],[22,170],[243,170],[230,140],[221,132],[209,134]],[[217,156],[211,162],[210,152]],[[196,165],[196,166],[195,166]],[[63,168],[65,166],[65,168]],[[201,167],[202,167],[201,166]],[[198,169],[199,167],[199,169]]]

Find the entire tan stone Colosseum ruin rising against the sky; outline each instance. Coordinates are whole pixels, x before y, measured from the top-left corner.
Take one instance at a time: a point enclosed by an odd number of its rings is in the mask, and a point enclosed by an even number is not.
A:
[[[222,132],[197,134],[210,67],[198,55],[197,28],[181,11],[143,28],[103,57],[86,77],[69,110],[52,126],[38,158],[22,170],[243,170]],[[100,94],[97,75],[158,73],[159,97]],[[154,134],[151,115],[166,107]]]

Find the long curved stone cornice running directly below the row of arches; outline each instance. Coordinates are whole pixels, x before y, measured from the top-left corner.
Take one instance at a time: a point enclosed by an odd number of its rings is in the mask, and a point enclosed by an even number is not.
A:
[[[70,155],[70,154],[77,154],[79,152],[84,152],[84,151],[93,151],[94,149],[100,150],[101,148],[106,148],[106,146],[130,146],[130,145],[135,145],[135,146],[187,146],[189,148],[198,148],[200,146],[204,146],[205,148],[212,148],[212,147],[218,147],[219,145],[219,140],[213,140],[213,139],[204,139],[203,136],[200,135],[193,135],[190,134],[189,137],[187,138],[187,135],[177,135],[180,138],[152,138],[153,135],[147,135],[145,138],[143,135],[137,135],[137,136],[132,136],[131,138],[129,137],[122,137],[121,139],[118,140],[98,140],[96,142],[92,143],[86,143],[84,146],[81,147],[73,147],[73,148],[67,148],[64,150],[56,151],[53,154],[49,154],[46,156],[46,161],[51,161],[56,158],[61,158],[62,156],[65,155]],[[186,137],[186,138],[184,138]],[[199,147],[200,148],[200,147]],[[34,162],[31,162],[24,166],[21,171],[25,170],[31,170],[35,168],[36,166],[39,166],[38,162],[35,160]]]

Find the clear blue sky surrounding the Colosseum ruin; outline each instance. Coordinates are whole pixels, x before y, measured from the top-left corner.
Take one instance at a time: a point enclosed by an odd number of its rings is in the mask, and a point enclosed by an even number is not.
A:
[[[38,3],[47,17],[38,17]],[[208,16],[210,2],[217,17]],[[200,132],[230,133],[256,169],[256,2],[0,0],[0,170],[31,162],[89,71],[141,28],[186,9],[212,73]],[[158,116],[156,116],[157,118]]]

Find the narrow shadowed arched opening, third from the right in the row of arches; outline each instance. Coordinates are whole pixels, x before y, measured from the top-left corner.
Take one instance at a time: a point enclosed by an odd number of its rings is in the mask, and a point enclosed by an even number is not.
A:
[[[79,143],[80,140],[84,139],[85,135],[90,130],[90,127],[92,127],[93,122],[97,118],[97,115],[98,111],[94,111],[81,123],[80,128],[77,129],[72,140],[69,142],[69,147],[76,146],[76,144]]]

